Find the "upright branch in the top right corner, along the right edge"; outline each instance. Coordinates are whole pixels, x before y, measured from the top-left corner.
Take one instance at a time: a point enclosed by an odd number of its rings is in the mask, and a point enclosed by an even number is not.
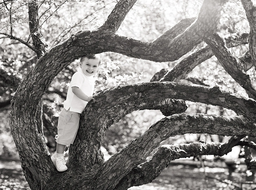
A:
[[[251,0],[241,0],[250,25],[249,48],[256,67],[256,6]]]

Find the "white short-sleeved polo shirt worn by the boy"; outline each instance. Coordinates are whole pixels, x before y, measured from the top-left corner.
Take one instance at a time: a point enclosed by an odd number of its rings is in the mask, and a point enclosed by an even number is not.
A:
[[[82,113],[87,101],[79,99],[73,92],[72,87],[80,88],[87,96],[92,96],[94,92],[95,79],[93,76],[86,76],[82,69],[79,68],[71,78],[71,82],[68,89],[67,98],[64,101],[64,108],[66,110]]]

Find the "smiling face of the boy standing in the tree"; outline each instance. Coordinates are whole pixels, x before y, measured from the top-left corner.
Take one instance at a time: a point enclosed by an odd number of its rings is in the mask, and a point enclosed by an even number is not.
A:
[[[98,70],[99,63],[98,59],[88,59],[85,57],[83,62],[79,63],[79,66],[82,68],[82,71],[86,76],[93,76]]]

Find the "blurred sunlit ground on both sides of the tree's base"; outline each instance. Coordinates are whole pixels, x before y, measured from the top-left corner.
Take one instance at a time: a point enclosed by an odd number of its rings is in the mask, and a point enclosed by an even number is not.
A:
[[[188,165],[169,165],[152,183],[129,190],[252,190],[256,181],[247,182],[246,172],[224,168],[198,168]],[[20,162],[0,161],[0,190],[30,190]]]

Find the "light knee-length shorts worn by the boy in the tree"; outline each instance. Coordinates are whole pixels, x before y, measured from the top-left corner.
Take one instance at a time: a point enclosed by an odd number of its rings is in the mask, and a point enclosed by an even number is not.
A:
[[[58,119],[57,143],[67,145],[73,144],[79,127],[80,114],[62,109]]]

